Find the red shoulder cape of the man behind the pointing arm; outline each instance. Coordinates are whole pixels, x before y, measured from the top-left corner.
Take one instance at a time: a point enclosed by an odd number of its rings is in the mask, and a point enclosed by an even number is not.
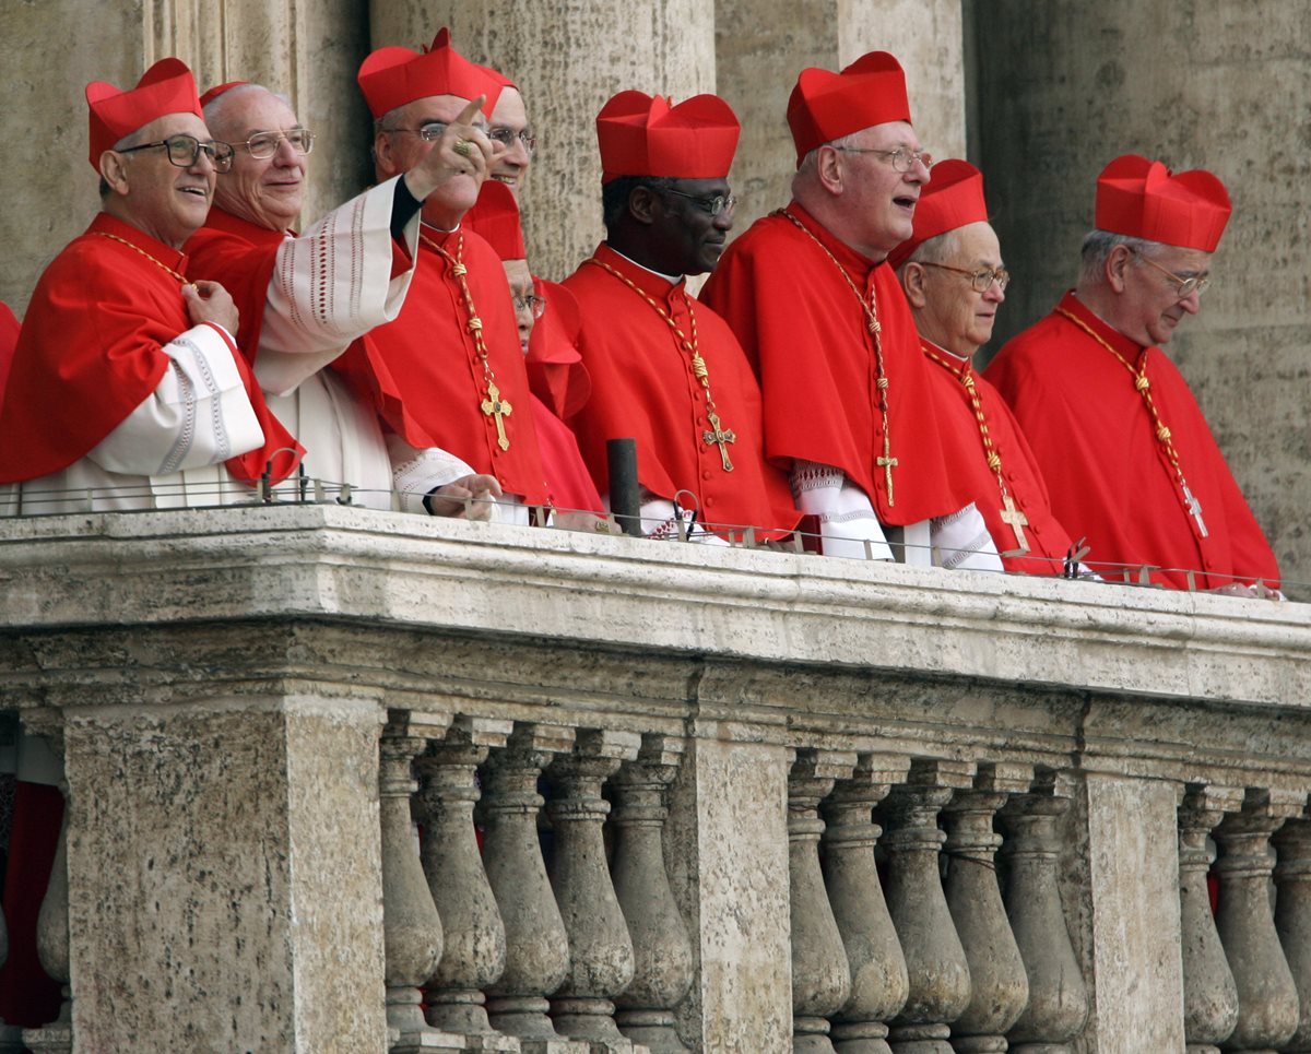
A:
[[[396,434],[414,447],[440,447],[477,472],[490,473],[509,494],[545,505],[548,486],[538,451],[528,376],[519,350],[510,283],[501,258],[472,231],[423,237],[452,256],[463,240],[463,261],[482,322],[497,388],[510,413],[503,418],[509,450],[501,450],[482,361],[468,329],[469,313],[451,266],[427,241],[400,315],[355,341],[332,368],[370,401]]]

